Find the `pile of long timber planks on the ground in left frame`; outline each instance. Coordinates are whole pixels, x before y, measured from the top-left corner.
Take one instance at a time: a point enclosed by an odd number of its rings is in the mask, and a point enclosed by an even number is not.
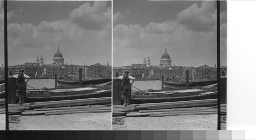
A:
[[[61,115],[111,112],[111,97],[9,104],[9,115]],[[5,108],[0,108],[0,114]]]

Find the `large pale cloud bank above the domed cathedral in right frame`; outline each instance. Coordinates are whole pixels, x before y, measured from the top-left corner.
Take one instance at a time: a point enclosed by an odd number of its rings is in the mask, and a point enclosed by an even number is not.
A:
[[[119,15],[120,17],[122,15]],[[221,43],[226,42],[226,11],[221,13]],[[113,23],[114,24],[114,23]],[[150,22],[145,26],[117,24],[113,29],[113,65],[142,63],[148,55],[153,65],[159,65],[164,48],[176,65],[201,66],[217,62],[215,2],[191,5],[177,14],[176,20]],[[131,57],[120,62],[120,52],[131,52]],[[225,51],[223,51],[225,53]],[[159,55],[158,55],[159,54]],[[186,56],[184,58],[184,56]],[[225,54],[223,54],[225,56]]]

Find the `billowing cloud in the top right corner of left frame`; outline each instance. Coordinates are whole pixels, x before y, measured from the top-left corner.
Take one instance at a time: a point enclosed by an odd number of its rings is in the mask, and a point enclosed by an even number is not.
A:
[[[106,8],[106,2],[86,3],[71,11],[69,19],[82,29],[103,30],[111,27],[111,8]]]

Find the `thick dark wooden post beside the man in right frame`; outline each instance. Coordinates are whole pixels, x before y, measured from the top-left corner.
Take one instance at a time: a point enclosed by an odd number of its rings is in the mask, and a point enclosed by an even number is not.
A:
[[[121,105],[121,79],[113,77],[112,86],[113,105]]]

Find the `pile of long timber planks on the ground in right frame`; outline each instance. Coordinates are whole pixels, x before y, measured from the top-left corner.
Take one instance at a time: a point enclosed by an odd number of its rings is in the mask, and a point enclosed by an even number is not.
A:
[[[132,104],[128,106],[114,105],[113,116],[162,117],[178,115],[217,114],[217,107],[214,105],[217,105],[217,99]]]

